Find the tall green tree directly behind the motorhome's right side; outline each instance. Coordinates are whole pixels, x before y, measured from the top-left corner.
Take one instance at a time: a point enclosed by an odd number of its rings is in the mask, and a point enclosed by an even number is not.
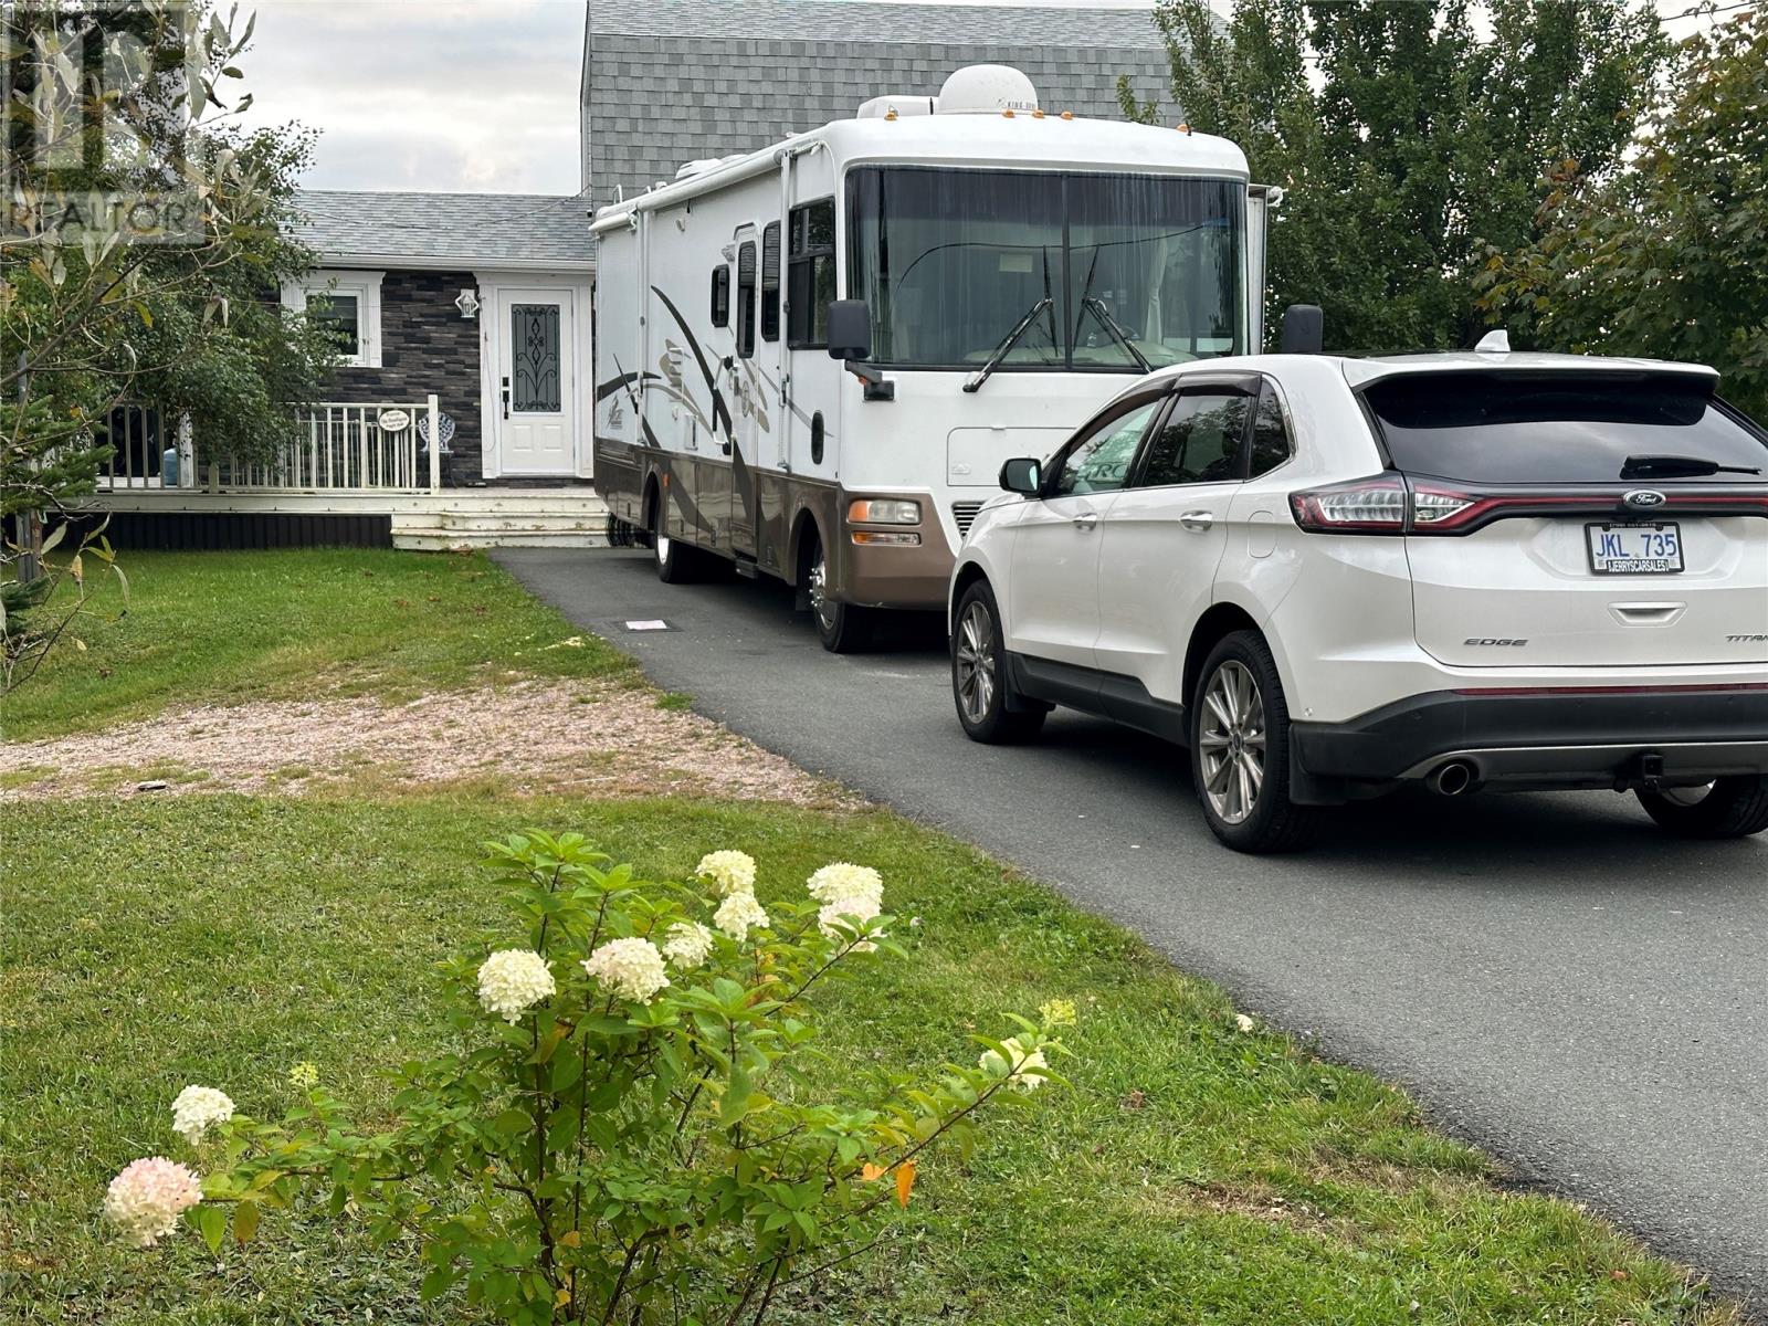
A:
[[[1285,189],[1273,309],[1321,304],[1347,350],[1467,345],[1489,246],[1533,233],[1549,163],[1614,168],[1665,50],[1627,0],[1234,0],[1227,23],[1158,0],[1155,21],[1190,126]]]

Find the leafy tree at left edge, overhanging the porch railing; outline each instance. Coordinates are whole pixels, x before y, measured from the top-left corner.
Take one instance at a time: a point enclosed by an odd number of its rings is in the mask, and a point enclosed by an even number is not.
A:
[[[221,124],[251,103],[221,99],[249,41],[251,21],[184,0],[0,16],[0,691],[69,629],[88,560],[113,564],[103,537],[55,520],[94,492],[117,405],[154,400],[205,442],[271,447],[329,361],[276,308],[313,263],[286,226],[311,140]]]

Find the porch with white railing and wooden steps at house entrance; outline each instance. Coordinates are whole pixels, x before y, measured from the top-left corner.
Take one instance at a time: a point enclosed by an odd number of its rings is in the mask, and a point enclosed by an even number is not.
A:
[[[447,550],[589,548],[606,543],[606,504],[587,481],[461,483],[447,415],[421,401],[322,401],[297,414],[272,456],[205,456],[184,423],[126,405],[92,511],[134,546],[391,545]],[[431,438],[437,440],[431,446]]]

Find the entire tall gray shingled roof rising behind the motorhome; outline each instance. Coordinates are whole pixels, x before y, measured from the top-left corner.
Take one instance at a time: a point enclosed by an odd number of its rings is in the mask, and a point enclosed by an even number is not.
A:
[[[1043,106],[1117,118],[1117,76],[1170,103],[1146,9],[872,0],[587,0],[583,182],[598,205],[697,157],[750,152],[882,92],[1010,64]],[[1170,113],[1170,104],[1169,104]]]

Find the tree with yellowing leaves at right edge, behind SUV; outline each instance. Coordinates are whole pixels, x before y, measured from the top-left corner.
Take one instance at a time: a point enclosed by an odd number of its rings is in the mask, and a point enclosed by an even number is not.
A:
[[[1768,419],[1768,12],[1678,48],[1623,171],[1572,156],[1543,184],[1536,233],[1490,253],[1487,316],[1542,348],[1711,364]]]

